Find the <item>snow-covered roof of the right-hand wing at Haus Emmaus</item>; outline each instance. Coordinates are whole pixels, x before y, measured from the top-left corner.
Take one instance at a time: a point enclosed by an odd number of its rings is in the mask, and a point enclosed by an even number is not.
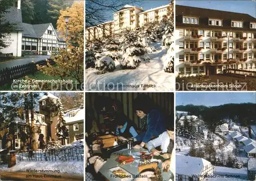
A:
[[[74,115],[74,116],[70,116]],[[78,107],[76,109],[70,109],[65,111],[64,120],[66,123],[71,123],[75,121],[83,121],[85,117],[84,107]]]

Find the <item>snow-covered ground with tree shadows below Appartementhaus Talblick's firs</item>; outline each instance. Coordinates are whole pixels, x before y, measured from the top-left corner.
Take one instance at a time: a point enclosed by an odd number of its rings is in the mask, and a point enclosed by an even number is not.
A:
[[[115,61],[116,70],[98,74],[93,68],[86,69],[87,90],[175,90],[175,75],[164,72],[164,57],[167,50],[161,49],[161,42],[154,43],[157,52],[150,54],[150,63],[141,63],[134,70],[121,70],[119,62]],[[153,84],[156,87],[143,88],[141,84]],[[127,87],[139,85],[139,87]],[[125,86],[125,87],[123,87]]]

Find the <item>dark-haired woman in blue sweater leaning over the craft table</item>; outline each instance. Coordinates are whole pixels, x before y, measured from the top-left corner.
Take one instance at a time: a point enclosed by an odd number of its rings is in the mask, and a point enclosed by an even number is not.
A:
[[[155,108],[152,99],[145,94],[139,94],[134,100],[134,109],[140,119],[147,117],[146,131],[141,132],[137,139],[142,142],[134,147],[139,149],[150,141],[153,136],[158,137],[166,130],[166,119],[160,110]]]

